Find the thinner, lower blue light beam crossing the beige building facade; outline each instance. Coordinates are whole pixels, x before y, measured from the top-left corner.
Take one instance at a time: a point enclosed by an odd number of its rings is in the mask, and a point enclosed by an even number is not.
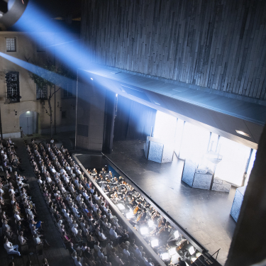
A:
[[[72,79],[69,79],[67,77],[62,77],[60,74],[57,74],[55,72],[51,72],[49,70],[45,70],[42,67],[38,67],[36,65],[33,65],[29,62],[20,60],[16,57],[12,57],[11,55],[6,55],[3,52],[0,52],[0,56],[5,58],[6,60],[9,60],[10,62],[13,62],[14,64],[25,68],[26,70],[33,72],[34,74],[40,74],[40,77],[43,77],[43,79],[48,80],[49,82],[54,82],[55,80],[59,81],[58,84],[60,84],[60,87],[62,89],[67,89],[67,82],[72,81]]]

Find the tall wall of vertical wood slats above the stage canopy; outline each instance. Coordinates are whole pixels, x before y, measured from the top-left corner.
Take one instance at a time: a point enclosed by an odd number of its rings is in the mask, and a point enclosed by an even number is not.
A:
[[[266,99],[265,0],[83,0],[90,60]]]

